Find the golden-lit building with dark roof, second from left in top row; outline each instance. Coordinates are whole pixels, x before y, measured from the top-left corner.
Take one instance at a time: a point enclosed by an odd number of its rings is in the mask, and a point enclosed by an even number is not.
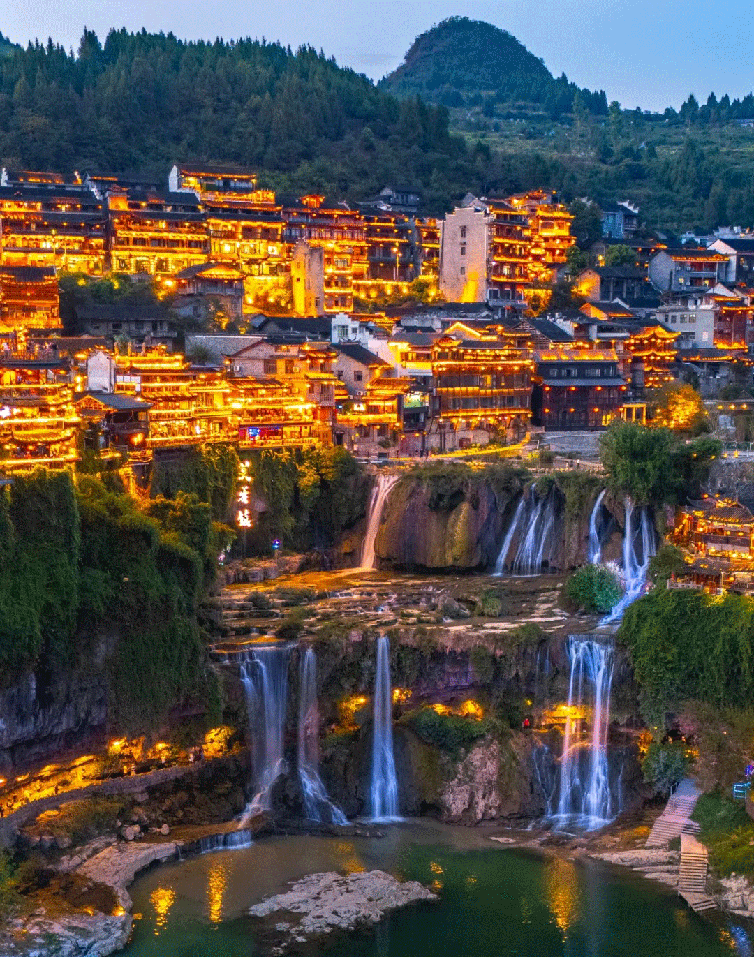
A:
[[[207,221],[193,193],[114,183],[104,197],[114,273],[170,277],[207,262]]]

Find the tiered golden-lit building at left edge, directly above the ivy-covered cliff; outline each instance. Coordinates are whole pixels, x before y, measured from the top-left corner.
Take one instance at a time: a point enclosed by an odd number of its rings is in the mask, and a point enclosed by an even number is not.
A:
[[[80,419],[70,364],[51,348],[0,346],[0,471],[7,475],[78,461]]]

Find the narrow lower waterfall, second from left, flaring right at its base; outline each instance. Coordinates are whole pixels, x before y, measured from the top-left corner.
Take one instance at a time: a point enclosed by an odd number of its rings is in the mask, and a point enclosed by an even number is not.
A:
[[[322,784],[319,738],[317,656],[313,648],[307,648],[301,657],[299,677],[299,781],[303,806],[310,821],[347,824],[344,812],[332,803]]]

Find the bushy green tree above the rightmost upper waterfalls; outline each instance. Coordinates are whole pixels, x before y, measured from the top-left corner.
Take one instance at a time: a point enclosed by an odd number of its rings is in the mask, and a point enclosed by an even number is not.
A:
[[[699,494],[721,453],[714,439],[684,444],[669,429],[633,422],[613,423],[600,442],[610,491],[637,505],[678,503]]]

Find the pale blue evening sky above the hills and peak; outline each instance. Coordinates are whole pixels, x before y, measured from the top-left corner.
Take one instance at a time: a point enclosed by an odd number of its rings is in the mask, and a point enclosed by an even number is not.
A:
[[[0,0],[0,32],[74,49],[84,26],[100,39],[123,26],[186,39],[265,36],[311,44],[379,79],[418,33],[453,15],[513,33],[556,76],[565,71],[631,109],[754,88],[752,0]]]

